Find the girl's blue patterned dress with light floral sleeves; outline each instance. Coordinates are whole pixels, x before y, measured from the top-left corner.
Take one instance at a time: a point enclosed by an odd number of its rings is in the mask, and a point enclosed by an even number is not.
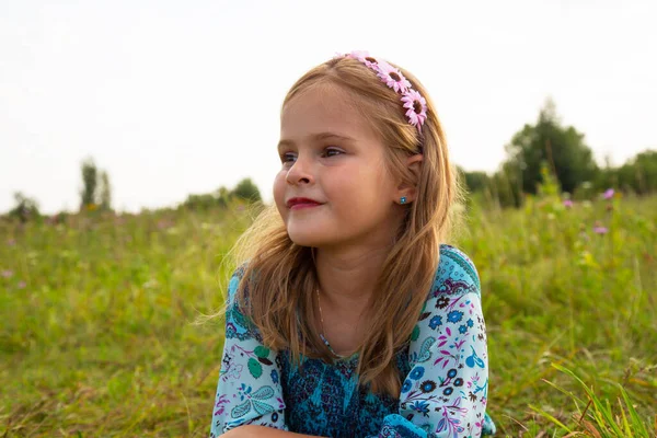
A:
[[[357,384],[358,354],[334,364],[273,351],[239,310],[243,270],[229,284],[226,343],[210,437],[261,425],[321,437],[480,437],[493,435],[486,331],[474,264],[441,245],[431,290],[396,356],[399,397]]]

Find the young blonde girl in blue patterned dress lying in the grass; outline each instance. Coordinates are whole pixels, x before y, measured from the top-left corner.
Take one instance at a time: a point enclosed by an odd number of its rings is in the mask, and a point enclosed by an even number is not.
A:
[[[460,200],[407,71],[338,56],[287,94],[275,205],[238,242],[211,437],[479,437],[486,333]],[[296,433],[296,434],[293,434]]]

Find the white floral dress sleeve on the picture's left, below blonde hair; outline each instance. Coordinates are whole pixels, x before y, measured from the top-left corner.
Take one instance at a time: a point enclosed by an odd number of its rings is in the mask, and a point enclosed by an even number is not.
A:
[[[262,344],[255,325],[235,302],[243,268],[235,270],[228,287],[226,342],[212,410],[210,437],[242,425],[287,430],[280,385],[280,361],[276,351]]]

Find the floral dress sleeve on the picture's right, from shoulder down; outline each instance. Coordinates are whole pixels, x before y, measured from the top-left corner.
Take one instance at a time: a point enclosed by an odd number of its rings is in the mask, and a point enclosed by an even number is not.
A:
[[[486,416],[488,355],[474,264],[441,251],[433,290],[411,337],[411,371],[399,415],[379,437],[480,437],[495,433]]]

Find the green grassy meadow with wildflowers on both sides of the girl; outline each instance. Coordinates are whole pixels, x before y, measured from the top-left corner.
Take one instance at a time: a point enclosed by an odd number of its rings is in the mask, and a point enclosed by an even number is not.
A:
[[[247,211],[0,222],[0,436],[207,436],[222,326],[194,321]],[[474,204],[456,244],[482,279],[497,436],[655,436],[657,198]]]

